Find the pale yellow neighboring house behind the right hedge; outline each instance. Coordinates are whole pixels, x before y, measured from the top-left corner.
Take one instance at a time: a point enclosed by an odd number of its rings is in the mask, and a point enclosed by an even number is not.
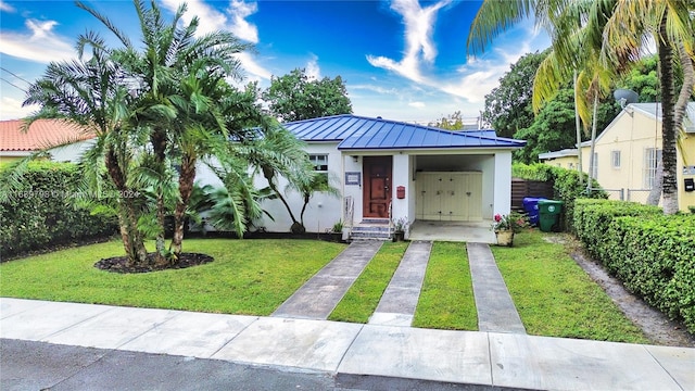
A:
[[[626,106],[596,138],[594,177],[608,190],[611,199],[645,202],[658,180],[657,163],[661,157],[661,105],[632,103]],[[555,152],[557,153],[557,152]],[[589,173],[591,142],[581,144],[582,169]],[[556,165],[553,152],[539,157]],[[565,156],[561,164],[569,164]],[[574,154],[574,166],[577,154]],[[688,103],[685,131],[677,150],[679,209],[695,205],[695,103]]]

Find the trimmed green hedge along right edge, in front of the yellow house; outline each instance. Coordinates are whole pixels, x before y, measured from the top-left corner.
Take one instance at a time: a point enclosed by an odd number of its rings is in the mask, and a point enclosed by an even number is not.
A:
[[[574,227],[591,255],[629,290],[695,332],[695,215],[578,200]]]

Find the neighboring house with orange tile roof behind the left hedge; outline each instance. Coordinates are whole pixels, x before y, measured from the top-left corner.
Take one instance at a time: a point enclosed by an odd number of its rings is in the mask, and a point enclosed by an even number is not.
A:
[[[22,131],[23,119],[0,121],[0,163],[10,163],[34,152],[51,148],[51,160],[75,162],[93,141],[74,125],[58,119],[38,119],[27,131]]]

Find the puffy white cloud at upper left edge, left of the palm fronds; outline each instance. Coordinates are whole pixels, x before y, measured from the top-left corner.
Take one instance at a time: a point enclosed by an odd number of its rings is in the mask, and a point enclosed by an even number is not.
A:
[[[26,20],[24,24],[29,33],[2,31],[0,53],[38,63],[76,56],[71,40],[53,33],[58,22]]]

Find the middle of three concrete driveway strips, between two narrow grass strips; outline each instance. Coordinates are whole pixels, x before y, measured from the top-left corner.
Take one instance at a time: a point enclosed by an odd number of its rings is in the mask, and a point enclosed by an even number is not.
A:
[[[431,251],[430,241],[410,242],[369,325],[409,327],[413,324]]]

